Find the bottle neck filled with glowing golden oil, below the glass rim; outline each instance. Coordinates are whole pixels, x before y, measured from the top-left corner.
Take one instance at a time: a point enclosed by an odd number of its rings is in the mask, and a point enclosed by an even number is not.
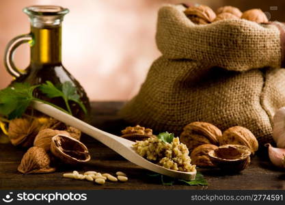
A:
[[[31,64],[61,64],[62,27],[31,26]]]

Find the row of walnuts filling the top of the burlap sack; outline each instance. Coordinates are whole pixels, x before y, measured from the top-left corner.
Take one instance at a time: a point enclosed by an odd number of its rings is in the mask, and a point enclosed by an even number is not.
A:
[[[190,6],[185,10],[185,15],[195,24],[205,25],[208,23],[213,23],[218,20],[226,19],[245,19],[251,20],[256,23],[268,23],[268,18],[260,9],[247,10],[241,12],[239,8],[235,8],[230,5],[218,8],[214,12],[207,5],[195,5]]]

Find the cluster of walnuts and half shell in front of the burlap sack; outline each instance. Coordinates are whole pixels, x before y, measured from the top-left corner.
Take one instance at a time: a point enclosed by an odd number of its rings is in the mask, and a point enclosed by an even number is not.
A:
[[[225,161],[230,163],[230,159],[225,160],[215,157],[215,160],[211,160],[209,155],[209,153],[214,152],[212,155],[221,156],[221,154],[218,154],[221,150],[228,152],[229,156],[232,153],[241,152],[234,155],[236,156],[235,160],[239,161],[240,164],[246,162],[246,165],[248,165],[250,162],[249,156],[245,159],[241,156],[245,156],[245,153],[253,155],[258,150],[256,137],[243,126],[233,126],[222,133],[217,126],[208,122],[191,122],[183,128],[180,141],[189,148],[192,163],[198,167],[219,166],[219,162],[223,163],[223,167],[227,167],[224,166]],[[212,159],[214,158],[212,157]],[[243,168],[245,167],[243,166]]]

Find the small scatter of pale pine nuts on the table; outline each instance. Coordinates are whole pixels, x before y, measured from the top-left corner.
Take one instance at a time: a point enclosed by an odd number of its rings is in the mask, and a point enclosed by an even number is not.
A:
[[[105,173],[101,174],[100,172],[95,171],[88,171],[84,174],[79,174],[77,171],[73,171],[72,173],[65,173],[63,174],[64,178],[73,178],[77,180],[87,180],[90,182],[96,182],[96,184],[105,184],[106,180],[109,180],[111,182],[126,182],[128,180],[128,177],[124,172],[116,172],[116,176],[113,176],[111,174]]]

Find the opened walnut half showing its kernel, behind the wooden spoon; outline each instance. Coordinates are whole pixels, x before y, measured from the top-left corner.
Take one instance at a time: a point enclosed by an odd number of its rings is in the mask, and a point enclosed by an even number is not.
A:
[[[150,137],[155,137],[155,135],[152,135],[152,129],[145,128],[144,126],[139,126],[139,125],[127,126],[121,132],[122,132],[121,137],[131,141],[143,141]]]

